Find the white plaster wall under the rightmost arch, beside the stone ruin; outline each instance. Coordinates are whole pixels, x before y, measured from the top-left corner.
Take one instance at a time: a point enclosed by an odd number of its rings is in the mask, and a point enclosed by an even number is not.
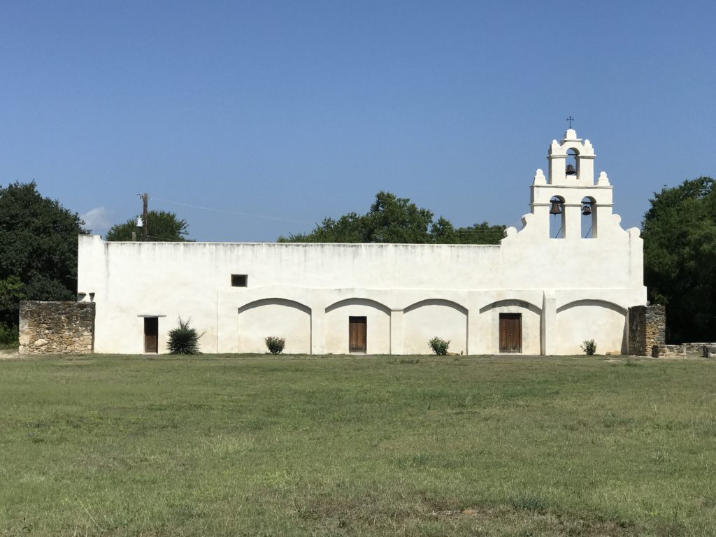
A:
[[[622,352],[626,347],[626,312],[614,304],[581,300],[557,309],[557,354],[584,354],[580,345],[594,339],[596,352]]]

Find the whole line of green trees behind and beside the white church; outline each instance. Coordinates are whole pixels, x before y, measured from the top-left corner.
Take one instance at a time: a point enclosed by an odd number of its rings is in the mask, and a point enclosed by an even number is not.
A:
[[[667,341],[716,339],[716,181],[685,180],[654,193],[642,221],[649,301],[667,306]],[[137,216],[112,226],[107,241],[130,241]],[[149,241],[188,241],[188,223],[150,211]],[[453,226],[408,198],[379,192],[366,213],[324,218],[279,242],[496,244],[505,226]],[[34,183],[0,185],[0,345],[16,346],[21,300],[77,296],[77,213],[44,198]],[[137,233],[140,235],[141,233]]]

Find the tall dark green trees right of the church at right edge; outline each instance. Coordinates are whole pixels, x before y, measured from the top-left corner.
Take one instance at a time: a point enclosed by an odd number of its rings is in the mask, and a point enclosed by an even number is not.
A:
[[[644,215],[649,300],[667,307],[667,341],[716,334],[716,180],[700,177],[654,193]]]

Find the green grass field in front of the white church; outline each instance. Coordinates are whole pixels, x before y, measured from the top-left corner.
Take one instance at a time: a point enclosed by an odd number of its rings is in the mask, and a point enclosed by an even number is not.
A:
[[[712,536],[716,361],[0,362],[0,535]]]

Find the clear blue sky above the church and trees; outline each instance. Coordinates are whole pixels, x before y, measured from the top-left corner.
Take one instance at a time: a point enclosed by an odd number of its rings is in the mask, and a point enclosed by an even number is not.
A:
[[[0,184],[274,241],[389,190],[518,226],[566,118],[639,226],[716,175],[716,3],[0,2]],[[203,207],[203,208],[199,208]]]

